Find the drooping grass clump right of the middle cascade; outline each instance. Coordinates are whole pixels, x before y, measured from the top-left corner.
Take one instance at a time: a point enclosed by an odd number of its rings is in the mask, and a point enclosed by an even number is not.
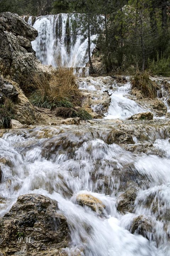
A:
[[[138,89],[141,93],[148,98],[157,97],[157,84],[149,78],[149,74],[145,71],[143,73],[137,72],[131,79],[131,89]]]

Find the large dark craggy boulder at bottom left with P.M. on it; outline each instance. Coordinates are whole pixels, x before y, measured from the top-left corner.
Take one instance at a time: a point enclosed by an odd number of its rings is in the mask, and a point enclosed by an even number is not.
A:
[[[57,202],[39,194],[19,196],[0,221],[0,247],[7,255],[60,255],[68,247],[68,225]]]

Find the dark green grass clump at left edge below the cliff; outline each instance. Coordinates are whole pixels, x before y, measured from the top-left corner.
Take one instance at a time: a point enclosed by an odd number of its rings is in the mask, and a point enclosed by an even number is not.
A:
[[[14,119],[14,104],[6,98],[4,103],[0,104],[0,128],[9,128],[11,119]]]

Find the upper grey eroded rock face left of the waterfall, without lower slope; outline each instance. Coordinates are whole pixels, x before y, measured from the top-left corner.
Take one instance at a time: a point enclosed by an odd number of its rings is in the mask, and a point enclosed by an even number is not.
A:
[[[35,57],[31,41],[37,36],[38,32],[17,14],[0,14],[0,70],[2,75],[10,75],[23,91],[35,73],[51,73]]]

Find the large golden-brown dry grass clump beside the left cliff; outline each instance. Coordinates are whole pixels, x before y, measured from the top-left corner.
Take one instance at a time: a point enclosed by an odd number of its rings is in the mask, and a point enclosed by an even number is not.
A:
[[[36,74],[33,82],[35,91],[29,95],[29,100],[34,106],[51,109],[80,105],[82,96],[73,69],[58,68],[53,74]]]

